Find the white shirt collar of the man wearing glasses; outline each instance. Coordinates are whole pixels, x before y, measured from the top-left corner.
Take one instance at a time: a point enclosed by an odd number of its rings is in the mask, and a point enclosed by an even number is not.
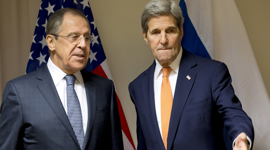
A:
[[[64,71],[62,71],[55,64],[53,64],[50,57],[49,57],[47,66],[48,66],[49,72],[50,72],[50,74],[52,76],[53,83],[54,83],[55,86],[57,86],[60,83],[60,81],[67,75],[67,73],[64,73]],[[76,76],[76,78],[81,83],[82,87],[84,87],[84,82],[83,82],[81,71],[77,71],[73,75]]]

